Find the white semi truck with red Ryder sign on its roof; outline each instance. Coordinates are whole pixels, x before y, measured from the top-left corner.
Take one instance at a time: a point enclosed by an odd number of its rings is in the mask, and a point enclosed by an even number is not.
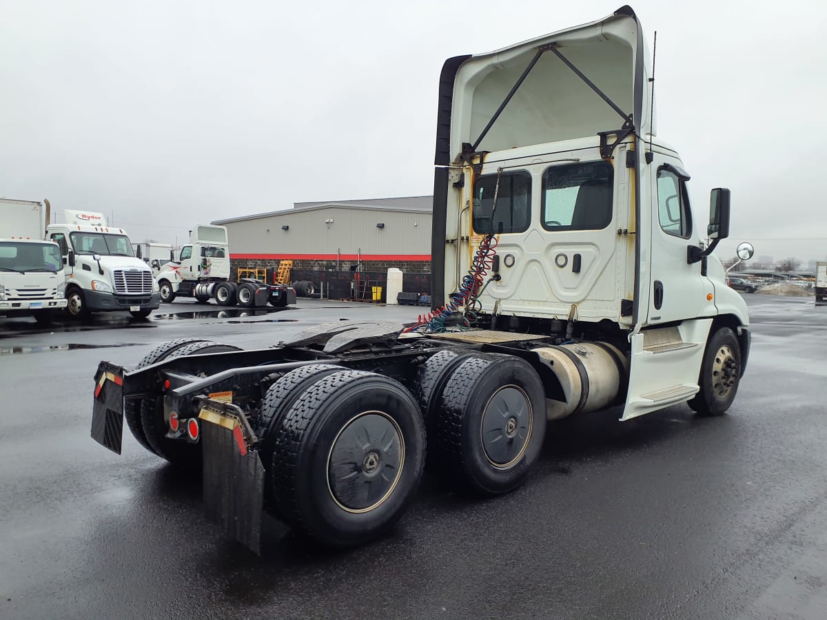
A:
[[[65,223],[46,228],[66,265],[66,311],[129,312],[148,317],[160,306],[152,269],[132,251],[127,232],[109,227],[103,213],[65,211]]]

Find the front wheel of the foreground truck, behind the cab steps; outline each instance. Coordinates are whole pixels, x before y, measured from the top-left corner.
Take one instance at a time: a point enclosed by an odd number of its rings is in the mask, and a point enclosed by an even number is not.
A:
[[[700,390],[689,401],[699,416],[722,416],[738,393],[741,380],[741,346],[729,327],[720,327],[706,342],[700,365]]]

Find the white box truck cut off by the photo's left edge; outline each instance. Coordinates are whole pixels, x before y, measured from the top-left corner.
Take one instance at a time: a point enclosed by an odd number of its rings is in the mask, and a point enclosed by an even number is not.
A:
[[[66,308],[65,275],[58,246],[44,241],[48,200],[0,198],[0,315],[51,322]]]

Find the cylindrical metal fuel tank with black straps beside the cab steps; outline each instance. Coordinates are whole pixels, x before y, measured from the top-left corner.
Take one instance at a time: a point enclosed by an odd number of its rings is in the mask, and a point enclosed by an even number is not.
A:
[[[563,400],[546,399],[549,420],[610,407],[629,374],[629,360],[608,342],[575,342],[533,352],[552,362],[563,391]]]

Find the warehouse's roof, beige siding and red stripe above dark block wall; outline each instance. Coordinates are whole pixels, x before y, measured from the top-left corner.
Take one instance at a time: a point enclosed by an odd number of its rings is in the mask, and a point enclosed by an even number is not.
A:
[[[294,203],[292,209],[218,220],[233,270],[293,260],[316,271],[431,270],[432,196]]]

